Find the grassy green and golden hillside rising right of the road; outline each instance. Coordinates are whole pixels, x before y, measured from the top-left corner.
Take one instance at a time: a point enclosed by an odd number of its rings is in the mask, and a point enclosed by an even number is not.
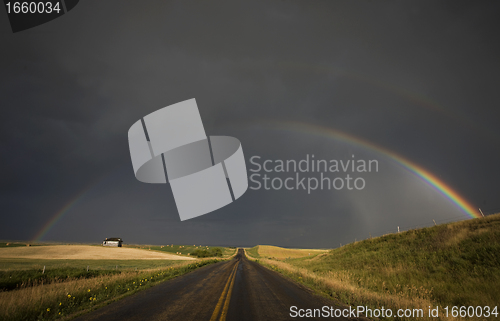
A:
[[[425,311],[418,320],[438,320],[427,317],[429,306],[499,305],[498,253],[499,214],[368,239],[313,258],[258,261],[345,304],[418,308]],[[444,313],[439,319],[454,320]]]

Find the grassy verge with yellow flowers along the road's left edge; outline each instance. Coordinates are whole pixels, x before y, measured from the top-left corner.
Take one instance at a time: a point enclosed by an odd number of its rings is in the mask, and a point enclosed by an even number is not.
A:
[[[159,282],[219,261],[205,259],[176,262],[160,269],[119,271],[90,278],[52,279],[49,284],[40,282],[34,286],[0,292],[0,319],[71,319]]]

